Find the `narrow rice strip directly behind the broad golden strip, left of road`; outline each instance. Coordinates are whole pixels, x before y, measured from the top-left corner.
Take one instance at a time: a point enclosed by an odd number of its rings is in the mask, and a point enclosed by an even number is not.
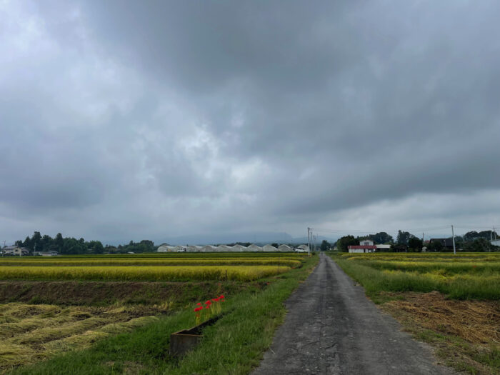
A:
[[[199,266],[215,266],[215,265],[256,265],[256,266],[291,266],[298,267],[301,265],[300,259],[289,257],[283,258],[224,258],[224,259],[209,259],[198,257],[196,259],[68,259],[68,258],[45,258],[45,259],[18,259],[9,258],[1,259],[0,266],[180,266],[180,265],[199,265]]]

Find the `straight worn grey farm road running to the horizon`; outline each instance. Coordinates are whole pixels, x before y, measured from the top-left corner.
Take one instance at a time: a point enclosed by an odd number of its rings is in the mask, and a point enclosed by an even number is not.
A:
[[[286,309],[252,374],[455,374],[436,365],[428,346],[400,331],[324,254]]]

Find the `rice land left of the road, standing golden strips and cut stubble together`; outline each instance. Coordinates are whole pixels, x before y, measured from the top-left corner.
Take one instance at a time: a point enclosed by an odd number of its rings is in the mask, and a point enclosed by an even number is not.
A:
[[[140,336],[144,344],[145,331],[151,339],[161,329],[170,330],[168,322],[194,325],[197,301],[224,294],[229,308],[275,284],[296,282],[291,275],[310,269],[311,259],[286,253],[0,258],[0,374],[36,374],[36,366],[41,369],[47,360],[96,350],[115,336]],[[161,348],[143,348],[162,353],[163,361],[148,371],[115,359],[102,363],[103,373],[155,373],[166,366],[168,337],[165,333],[166,342],[150,342]]]

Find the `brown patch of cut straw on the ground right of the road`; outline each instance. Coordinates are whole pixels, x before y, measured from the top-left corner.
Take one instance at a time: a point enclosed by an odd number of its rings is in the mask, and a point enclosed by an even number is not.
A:
[[[437,291],[387,294],[381,309],[459,371],[500,373],[500,302],[456,301]]]

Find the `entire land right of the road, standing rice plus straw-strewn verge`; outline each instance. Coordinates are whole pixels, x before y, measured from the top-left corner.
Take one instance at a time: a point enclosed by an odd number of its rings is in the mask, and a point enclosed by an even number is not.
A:
[[[500,253],[332,257],[446,364],[468,374],[500,374]]]

